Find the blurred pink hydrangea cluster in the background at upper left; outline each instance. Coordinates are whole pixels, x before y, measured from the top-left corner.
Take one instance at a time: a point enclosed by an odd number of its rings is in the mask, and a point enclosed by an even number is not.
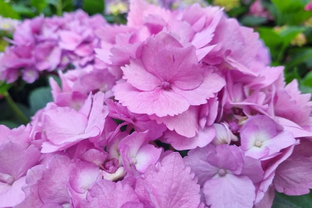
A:
[[[93,63],[94,48],[99,45],[94,30],[104,24],[101,15],[89,17],[82,10],[24,20],[16,26],[13,40],[8,40],[12,45],[0,57],[0,79],[10,83],[21,75],[32,83],[43,71]]]

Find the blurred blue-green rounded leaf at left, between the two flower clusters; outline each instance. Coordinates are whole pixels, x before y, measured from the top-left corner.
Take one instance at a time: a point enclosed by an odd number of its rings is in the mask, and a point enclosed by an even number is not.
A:
[[[39,87],[34,89],[29,95],[30,110],[34,114],[39,109],[44,108],[48,102],[53,101],[50,87]]]

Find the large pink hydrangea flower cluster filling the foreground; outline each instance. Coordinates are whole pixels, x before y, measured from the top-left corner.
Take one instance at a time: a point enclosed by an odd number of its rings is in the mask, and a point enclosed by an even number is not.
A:
[[[127,25],[94,34],[97,62],[50,79],[28,125],[0,126],[0,207],[270,208],[275,190],[310,192],[311,95],[253,29],[134,0]]]

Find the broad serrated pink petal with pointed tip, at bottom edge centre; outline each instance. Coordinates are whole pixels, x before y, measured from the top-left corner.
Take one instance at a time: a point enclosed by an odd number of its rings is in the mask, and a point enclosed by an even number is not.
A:
[[[135,191],[147,207],[197,208],[200,195],[196,182],[181,156],[171,153],[157,167],[147,169],[144,178],[137,180]]]

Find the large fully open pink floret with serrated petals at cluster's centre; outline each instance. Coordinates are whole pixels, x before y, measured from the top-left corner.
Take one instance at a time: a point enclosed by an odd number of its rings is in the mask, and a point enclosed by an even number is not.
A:
[[[122,67],[126,82],[113,88],[115,99],[133,113],[178,115],[191,105],[207,103],[225,84],[198,64],[194,46],[183,47],[165,32],[148,38],[137,56]]]

